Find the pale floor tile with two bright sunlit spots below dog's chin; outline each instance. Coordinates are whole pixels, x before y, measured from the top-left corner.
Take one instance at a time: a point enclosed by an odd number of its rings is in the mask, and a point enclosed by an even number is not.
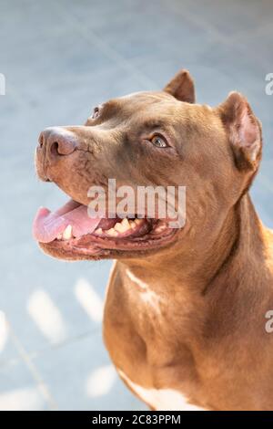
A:
[[[15,253],[19,271],[13,264]],[[26,351],[101,330],[110,262],[62,263],[46,257],[35,243],[25,242],[8,247],[3,264],[1,307]]]

